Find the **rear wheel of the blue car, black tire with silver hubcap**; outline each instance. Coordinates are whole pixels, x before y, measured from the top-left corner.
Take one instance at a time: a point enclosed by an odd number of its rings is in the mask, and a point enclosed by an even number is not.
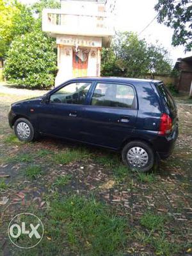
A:
[[[132,141],[122,149],[122,160],[132,171],[145,173],[154,167],[155,155],[147,143]]]

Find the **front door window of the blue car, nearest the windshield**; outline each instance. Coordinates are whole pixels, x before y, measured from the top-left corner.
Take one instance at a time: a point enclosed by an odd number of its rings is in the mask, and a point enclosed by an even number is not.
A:
[[[83,104],[92,83],[70,83],[54,92],[50,103]]]

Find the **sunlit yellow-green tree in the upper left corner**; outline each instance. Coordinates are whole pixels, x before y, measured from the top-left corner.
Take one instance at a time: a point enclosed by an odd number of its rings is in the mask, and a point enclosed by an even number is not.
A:
[[[31,10],[16,0],[0,0],[0,58],[3,60],[13,38],[32,31]]]

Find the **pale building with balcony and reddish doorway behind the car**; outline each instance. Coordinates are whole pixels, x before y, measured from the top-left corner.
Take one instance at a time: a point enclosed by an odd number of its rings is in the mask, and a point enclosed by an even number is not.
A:
[[[56,85],[78,76],[100,76],[100,51],[114,35],[116,0],[61,0],[61,9],[44,9],[42,30],[56,37]]]

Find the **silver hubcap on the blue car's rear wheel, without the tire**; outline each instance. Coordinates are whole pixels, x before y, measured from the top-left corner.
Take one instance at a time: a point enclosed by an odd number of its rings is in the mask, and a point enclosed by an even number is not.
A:
[[[129,149],[127,160],[134,167],[144,167],[148,162],[148,153],[143,148],[134,147]]]

